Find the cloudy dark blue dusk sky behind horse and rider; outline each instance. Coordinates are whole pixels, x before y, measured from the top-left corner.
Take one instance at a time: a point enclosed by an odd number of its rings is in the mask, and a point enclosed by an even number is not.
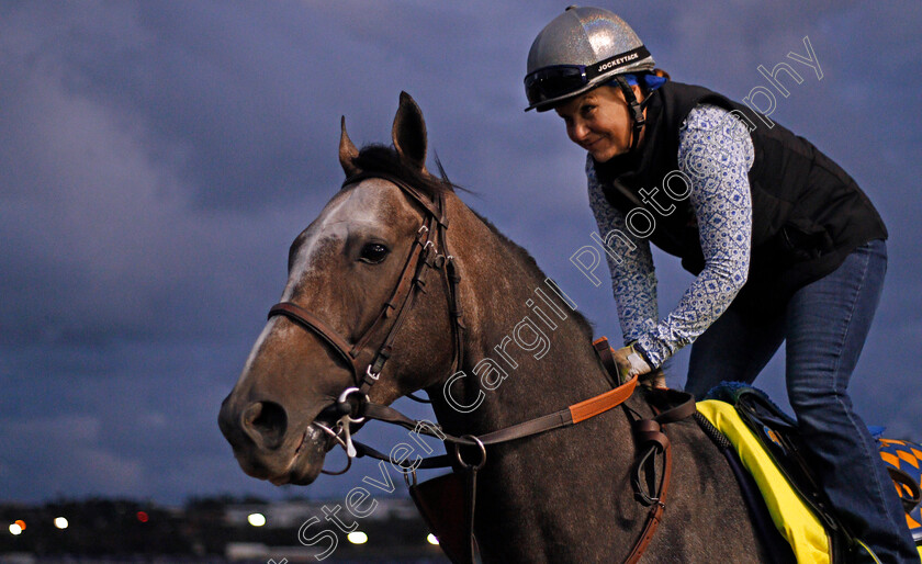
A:
[[[868,422],[922,438],[922,5],[601,5],[673,79],[734,100],[768,86],[760,65],[801,71],[773,119],[842,163],[890,229],[852,394]],[[452,180],[479,192],[469,205],[617,338],[607,278],[595,287],[569,261],[595,229],[584,156],[559,117],[522,112],[528,47],[564,7],[0,4],[0,500],[316,498],[369,471],[280,490],[240,472],[215,419],[289,244],[339,187],[339,116],[357,143],[389,142],[401,90]],[[822,79],[786,58],[805,36]],[[656,263],[665,314],[690,278]],[[757,381],[776,396],[780,360]],[[384,448],[395,435],[363,437]]]

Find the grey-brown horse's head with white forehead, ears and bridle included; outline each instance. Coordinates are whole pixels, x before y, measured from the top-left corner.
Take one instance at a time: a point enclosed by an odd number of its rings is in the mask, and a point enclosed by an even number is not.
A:
[[[392,137],[393,149],[359,151],[342,120],[347,180],[292,242],[281,303],[222,404],[221,430],[251,476],[312,483],[361,403],[387,405],[459,362],[446,236],[459,200],[426,170],[426,125],[406,93]]]

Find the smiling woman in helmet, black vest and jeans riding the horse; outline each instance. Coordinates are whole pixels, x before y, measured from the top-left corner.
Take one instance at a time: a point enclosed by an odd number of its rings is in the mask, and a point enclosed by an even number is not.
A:
[[[686,388],[702,397],[751,383],[786,341],[790,405],[830,500],[880,561],[919,562],[846,393],[887,268],[887,230],[855,181],[767,117],[670,81],[607,10],[571,7],[549,23],[525,88],[528,110],[555,110],[588,151],[619,368],[662,384],[663,362],[694,342]],[[697,277],[663,318],[650,241]]]

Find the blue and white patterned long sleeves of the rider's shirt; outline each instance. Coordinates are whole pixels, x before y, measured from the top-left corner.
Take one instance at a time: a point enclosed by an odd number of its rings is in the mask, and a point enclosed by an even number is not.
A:
[[[679,131],[678,170],[692,180],[705,268],[676,307],[659,318],[650,241],[626,228],[623,214],[605,199],[592,156],[586,159],[589,205],[603,238],[618,229],[633,248],[620,262],[607,253],[625,342],[637,341],[654,366],[692,343],[727,309],[746,281],[752,241],[749,129],[726,110],[699,104]],[[667,204],[666,204],[667,206]]]

